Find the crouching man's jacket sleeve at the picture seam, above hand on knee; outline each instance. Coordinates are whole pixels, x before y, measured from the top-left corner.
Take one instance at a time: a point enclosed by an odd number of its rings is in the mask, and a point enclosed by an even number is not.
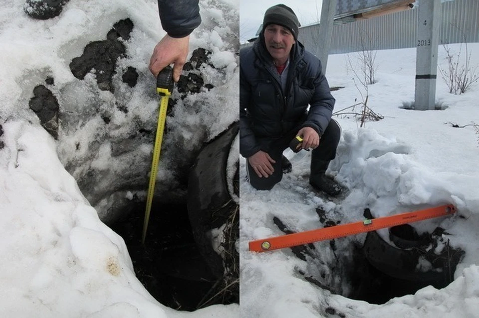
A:
[[[244,158],[254,155],[261,150],[256,142],[256,137],[251,130],[251,121],[247,115],[246,107],[251,96],[251,85],[247,81],[242,65],[246,65],[246,61],[241,60],[241,56],[246,49],[240,51],[240,154]]]

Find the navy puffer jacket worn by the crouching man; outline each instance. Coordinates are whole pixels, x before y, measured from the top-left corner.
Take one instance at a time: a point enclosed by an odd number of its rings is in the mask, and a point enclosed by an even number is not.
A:
[[[249,157],[264,149],[264,140],[312,127],[322,135],[335,100],[318,58],[296,41],[289,58],[286,92],[260,34],[240,50],[240,153]],[[309,111],[307,111],[310,105]],[[261,141],[261,142],[259,142]]]

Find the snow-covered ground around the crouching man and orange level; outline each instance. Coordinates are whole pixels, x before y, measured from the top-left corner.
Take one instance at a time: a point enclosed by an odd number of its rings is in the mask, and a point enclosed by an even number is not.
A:
[[[459,45],[451,46],[456,52]],[[464,47],[463,47],[464,55]],[[472,65],[479,64],[479,44],[469,44]],[[439,48],[439,64],[447,68],[446,54]],[[354,62],[355,54],[349,54]],[[359,128],[352,116],[335,117],[342,126],[337,157],[328,173],[350,189],[340,205],[325,202],[309,189],[310,154],[285,152],[293,170],[271,191],[256,191],[245,182],[244,158],[240,160],[240,282],[241,317],[292,318],[339,317],[479,317],[479,85],[462,95],[449,94],[438,73],[436,100],[444,110],[404,109],[414,101],[416,50],[384,50],[377,53],[377,83],[369,87],[370,106],[384,119]],[[335,110],[361,102],[347,55],[330,55],[326,76],[329,84],[342,86],[332,92]],[[357,82],[357,81],[356,81]],[[363,91],[364,94],[364,91]],[[356,109],[358,111],[358,109]],[[333,261],[328,242],[315,243],[319,260],[296,258],[291,250],[252,253],[247,242],[282,232],[273,223],[280,218],[293,231],[322,227],[315,209],[342,223],[363,219],[370,208],[374,216],[409,212],[446,203],[457,215],[412,224],[421,231],[440,225],[454,247],[466,251],[448,287],[427,287],[415,295],[394,298],[384,305],[371,305],[331,294],[307,282],[299,272],[326,271],[326,285],[341,286],[338,273],[327,272]],[[463,216],[463,217],[460,217]],[[384,235],[384,230],[380,234]],[[338,251],[365,234],[336,239]],[[346,259],[348,255],[343,255]],[[350,264],[354,266],[354,264]],[[319,276],[319,275],[318,275]],[[334,286],[333,286],[334,287]],[[341,286],[343,291],[347,286]]]

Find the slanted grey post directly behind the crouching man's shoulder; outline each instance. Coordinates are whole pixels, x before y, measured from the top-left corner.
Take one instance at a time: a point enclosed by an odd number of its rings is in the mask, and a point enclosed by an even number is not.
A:
[[[316,43],[316,56],[321,61],[323,73],[326,73],[328,64],[329,44],[333,30],[334,14],[336,13],[337,0],[323,0],[321,5],[321,20],[319,23],[318,43]]]

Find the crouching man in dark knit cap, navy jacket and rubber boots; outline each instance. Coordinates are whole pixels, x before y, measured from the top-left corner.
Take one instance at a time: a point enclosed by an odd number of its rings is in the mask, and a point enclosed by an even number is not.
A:
[[[341,187],[325,175],[341,135],[331,119],[335,100],[321,62],[297,40],[298,28],[291,8],[274,5],[253,45],[240,50],[240,153],[251,186],[270,190],[291,169],[282,153],[300,136],[300,147],[313,149],[309,183],[337,196]]]

